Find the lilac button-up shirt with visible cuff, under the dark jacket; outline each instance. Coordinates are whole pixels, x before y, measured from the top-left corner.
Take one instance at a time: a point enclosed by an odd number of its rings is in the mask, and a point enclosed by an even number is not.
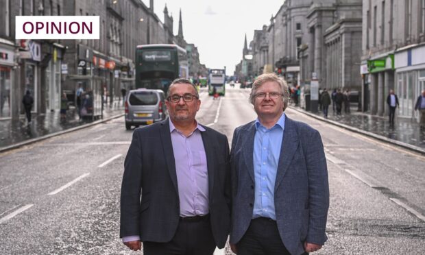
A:
[[[205,129],[197,124],[195,130],[184,136],[171,120],[170,134],[177,174],[180,217],[207,215],[208,169],[201,132]],[[140,240],[139,236],[123,236],[123,242]]]

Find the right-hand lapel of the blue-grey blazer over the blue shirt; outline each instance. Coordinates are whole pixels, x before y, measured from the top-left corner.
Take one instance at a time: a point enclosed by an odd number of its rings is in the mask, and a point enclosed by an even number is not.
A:
[[[276,182],[274,191],[278,189],[280,182],[282,182],[285,173],[287,173],[289,164],[298,148],[298,133],[295,129],[295,123],[286,117],[284,124],[284,133],[282,139],[282,146],[280,149],[280,157],[278,162],[278,173],[276,174]]]

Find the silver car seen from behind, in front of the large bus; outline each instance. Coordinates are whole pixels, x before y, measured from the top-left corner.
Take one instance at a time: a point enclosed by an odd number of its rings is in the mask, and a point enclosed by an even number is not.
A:
[[[125,128],[149,125],[168,116],[165,93],[159,89],[130,90],[125,97]]]

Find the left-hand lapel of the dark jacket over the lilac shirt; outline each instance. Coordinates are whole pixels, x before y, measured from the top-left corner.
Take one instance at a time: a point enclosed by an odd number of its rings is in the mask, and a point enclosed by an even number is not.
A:
[[[166,119],[165,121],[161,122],[160,137],[162,141],[162,149],[164,149],[165,162],[167,163],[167,168],[171,177],[171,181],[173,182],[175,191],[178,194],[177,173],[175,173],[175,159],[173,153],[173,145],[171,143],[169,119]]]

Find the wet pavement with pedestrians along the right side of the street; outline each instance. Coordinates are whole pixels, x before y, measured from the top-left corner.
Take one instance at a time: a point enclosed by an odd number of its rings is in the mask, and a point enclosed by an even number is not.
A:
[[[425,130],[421,130],[419,123],[411,119],[396,117],[394,124],[390,125],[388,116],[380,117],[357,112],[356,108],[351,108],[349,113],[342,112],[341,115],[337,115],[336,112],[333,112],[331,105],[328,110],[328,118],[324,118],[321,111],[312,113],[300,107],[289,107],[315,119],[425,154]]]

